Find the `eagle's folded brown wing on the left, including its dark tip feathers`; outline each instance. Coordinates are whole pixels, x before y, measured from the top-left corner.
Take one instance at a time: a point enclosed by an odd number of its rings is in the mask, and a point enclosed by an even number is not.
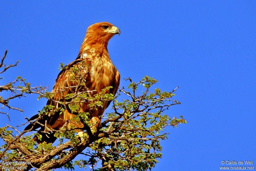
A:
[[[90,70],[90,60],[77,58],[75,61],[69,63],[67,66],[64,67],[63,70],[60,71],[56,83],[53,86],[53,97],[47,101],[47,105],[52,105],[53,110],[56,111],[58,108],[61,107],[61,102],[66,102],[65,97],[67,94],[75,93],[75,91],[82,91],[84,86],[80,85],[77,80],[74,80],[75,75],[74,70],[80,71],[79,77],[83,78],[84,80],[88,77],[88,71]],[[67,108],[67,106],[66,106]],[[67,108],[68,109],[68,108]],[[65,114],[69,115],[71,112],[65,111]],[[57,129],[61,128],[64,124],[64,117],[60,115],[60,112],[49,113],[49,115],[40,116],[36,114],[30,118],[30,121],[36,120],[36,123],[30,123],[25,130],[36,130],[41,127],[41,130],[44,131],[45,121],[46,125],[49,128]]]

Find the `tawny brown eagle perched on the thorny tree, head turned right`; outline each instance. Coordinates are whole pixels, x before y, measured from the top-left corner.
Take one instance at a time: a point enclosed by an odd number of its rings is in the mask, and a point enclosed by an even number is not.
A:
[[[47,105],[53,106],[51,114],[45,116],[37,114],[31,117],[29,119],[30,124],[25,128],[25,130],[40,128],[38,134],[41,135],[41,138],[34,137],[37,143],[44,141],[53,143],[57,139],[54,132],[48,130],[60,130],[63,127],[67,129],[84,127],[82,122],[71,121],[77,113],[72,112],[69,106],[65,105],[68,104],[66,97],[68,94],[89,92],[89,95],[93,97],[106,87],[112,87],[105,89],[106,93],[116,94],[120,83],[120,74],[110,60],[107,49],[108,41],[115,34],[120,35],[119,28],[109,22],[95,23],[87,28],[76,60],[60,71],[53,86],[53,97],[47,101]],[[79,77],[76,78],[78,72]],[[103,104],[96,109],[89,107],[89,101],[80,102],[78,106],[80,112],[89,112],[90,123],[95,128],[100,124],[101,116],[109,103],[110,101],[103,101]],[[58,108],[63,105],[65,111],[60,113]]]

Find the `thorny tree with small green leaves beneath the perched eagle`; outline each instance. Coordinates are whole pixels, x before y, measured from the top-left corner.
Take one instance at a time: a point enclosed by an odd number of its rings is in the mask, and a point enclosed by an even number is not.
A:
[[[4,64],[6,54],[7,51],[0,63],[0,74],[19,62],[6,66]],[[62,64],[61,68],[63,69]],[[72,72],[74,76],[79,77],[80,71],[74,69]],[[131,78],[125,80],[129,82],[129,86],[121,87],[115,97],[105,93],[111,88],[107,87],[93,97],[89,92],[76,92],[66,96],[68,102],[59,102],[61,108],[57,110],[61,113],[68,105],[73,112],[77,112],[73,120],[82,122],[84,127],[49,129],[55,133],[58,143],[37,144],[33,136],[37,135],[40,138],[39,134],[27,135],[33,127],[25,131],[18,130],[17,125],[0,128],[0,138],[4,141],[0,147],[1,169],[47,171],[64,167],[74,170],[74,166],[77,165],[80,168],[91,167],[93,171],[151,170],[155,167],[157,159],[162,156],[160,142],[167,138],[167,133],[163,133],[163,129],[167,126],[177,127],[178,123],[186,123],[182,116],[170,118],[167,115],[172,105],[180,104],[179,101],[172,100],[178,87],[170,92],[162,92],[159,88],[152,88],[157,80],[148,76],[139,82],[133,82]],[[1,85],[0,92],[2,91],[9,93],[7,98],[0,96],[2,109],[19,111],[22,110],[9,105],[10,100],[24,97],[26,94],[38,94],[39,98],[48,99],[53,96],[46,87],[31,87],[31,84],[21,77]],[[95,109],[99,108],[102,102],[109,100],[112,101],[111,112],[102,115],[102,123],[99,127],[90,129],[92,125],[89,114],[79,112],[78,104],[90,101],[90,107]],[[52,108],[46,105],[39,111],[40,117],[56,112],[52,111]],[[0,111],[0,113],[7,115],[8,118],[12,117],[6,112]],[[27,119],[22,125],[36,122],[37,120]],[[84,131],[83,137],[76,135],[76,129]],[[82,159],[76,160],[77,155],[81,155]]]

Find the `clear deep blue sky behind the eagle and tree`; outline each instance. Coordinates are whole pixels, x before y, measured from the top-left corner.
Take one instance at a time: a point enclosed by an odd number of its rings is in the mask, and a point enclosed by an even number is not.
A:
[[[6,63],[20,60],[1,85],[22,76],[51,90],[59,64],[76,58],[86,28],[108,21],[121,30],[108,44],[121,78],[149,75],[165,91],[180,86],[181,105],[168,115],[188,123],[165,130],[169,139],[153,171],[256,162],[255,1],[2,1],[0,16],[0,56],[8,49]],[[11,122],[0,115],[0,126],[36,114],[46,103],[36,99],[15,101],[24,112],[9,111]]]

